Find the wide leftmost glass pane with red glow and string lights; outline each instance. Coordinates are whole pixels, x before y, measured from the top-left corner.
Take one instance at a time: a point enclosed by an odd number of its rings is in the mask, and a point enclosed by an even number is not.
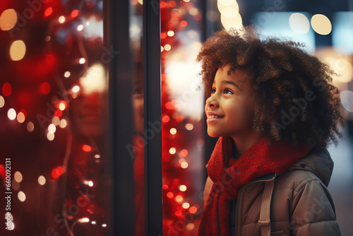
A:
[[[112,52],[103,45],[102,7],[101,0],[1,1],[6,235],[111,232]]]

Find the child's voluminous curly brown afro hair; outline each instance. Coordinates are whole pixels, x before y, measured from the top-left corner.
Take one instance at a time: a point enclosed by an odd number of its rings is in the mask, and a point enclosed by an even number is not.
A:
[[[338,123],[340,91],[332,85],[335,72],[317,57],[306,53],[303,43],[262,37],[248,26],[213,34],[206,40],[197,61],[205,97],[210,96],[215,73],[230,64],[246,69],[256,95],[253,129],[269,134],[270,141],[286,139],[296,145],[310,143],[316,148],[337,146],[342,138]]]

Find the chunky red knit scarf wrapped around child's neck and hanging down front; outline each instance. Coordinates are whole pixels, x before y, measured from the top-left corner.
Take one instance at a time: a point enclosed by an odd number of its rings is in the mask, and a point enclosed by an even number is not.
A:
[[[284,173],[311,150],[311,146],[294,147],[286,141],[269,145],[265,136],[238,159],[231,160],[233,142],[232,137],[221,136],[208,162],[208,175],[214,184],[198,235],[229,236],[229,202],[238,198],[241,187],[270,173]]]

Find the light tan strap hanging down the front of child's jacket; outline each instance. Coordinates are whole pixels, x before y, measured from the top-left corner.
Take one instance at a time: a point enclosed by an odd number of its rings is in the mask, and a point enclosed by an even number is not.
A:
[[[258,220],[258,224],[261,226],[261,236],[270,236],[271,234],[270,207],[274,185],[275,179],[271,179],[265,182],[265,188],[263,189],[260,220]]]

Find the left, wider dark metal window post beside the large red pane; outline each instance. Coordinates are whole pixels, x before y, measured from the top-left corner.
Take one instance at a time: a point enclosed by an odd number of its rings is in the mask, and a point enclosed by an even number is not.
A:
[[[133,89],[129,38],[130,1],[104,0],[104,44],[117,54],[109,63],[109,138],[112,157],[112,235],[134,235]],[[118,53],[119,52],[119,53]]]

